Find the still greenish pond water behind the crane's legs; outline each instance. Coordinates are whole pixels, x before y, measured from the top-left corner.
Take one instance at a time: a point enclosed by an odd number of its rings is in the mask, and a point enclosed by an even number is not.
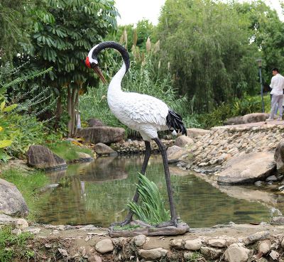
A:
[[[47,173],[51,183],[63,186],[40,198],[38,222],[109,226],[121,221],[127,213],[126,203],[132,200],[142,163],[143,155],[106,157]],[[270,209],[260,202],[229,197],[202,178],[176,167],[170,172],[177,213],[192,227],[269,220]],[[151,156],[146,175],[158,185],[168,203],[159,155]]]

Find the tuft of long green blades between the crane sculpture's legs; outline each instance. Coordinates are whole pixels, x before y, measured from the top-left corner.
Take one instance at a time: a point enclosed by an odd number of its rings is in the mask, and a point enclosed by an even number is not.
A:
[[[164,201],[154,182],[139,173],[136,187],[142,202],[141,204],[129,202],[127,207],[138,219],[153,225],[170,220],[170,212],[165,209]]]

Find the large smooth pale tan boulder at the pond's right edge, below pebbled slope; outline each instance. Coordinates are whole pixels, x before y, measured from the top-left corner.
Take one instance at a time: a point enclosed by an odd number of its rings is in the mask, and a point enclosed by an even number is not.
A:
[[[228,160],[225,169],[219,174],[218,183],[250,184],[257,180],[265,180],[274,170],[273,153],[249,153]]]

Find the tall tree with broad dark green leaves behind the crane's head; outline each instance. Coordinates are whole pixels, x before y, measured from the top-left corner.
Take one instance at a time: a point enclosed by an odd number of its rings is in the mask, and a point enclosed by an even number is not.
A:
[[[45,9],[35,9],[34,52],[26,55],[31,67],[48,68],[45,84],[58,94],[57,115],[67,94],[69,135],[75,134],[75,110],[80,89],[94,84],[94,74],[84,66],[93,45],[116,28],[118,15],[113,0],[46,0]]]

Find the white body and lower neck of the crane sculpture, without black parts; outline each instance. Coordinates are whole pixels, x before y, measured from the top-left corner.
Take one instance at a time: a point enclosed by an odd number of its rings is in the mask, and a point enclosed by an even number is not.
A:
[[[109,84],[107,102],[112,113],[126,126],[141,133],[144,140],[157,138],[157,131],[167,130],[168,106],[147,94],[123,92],[121,80],[126,72],[125,64]]]

